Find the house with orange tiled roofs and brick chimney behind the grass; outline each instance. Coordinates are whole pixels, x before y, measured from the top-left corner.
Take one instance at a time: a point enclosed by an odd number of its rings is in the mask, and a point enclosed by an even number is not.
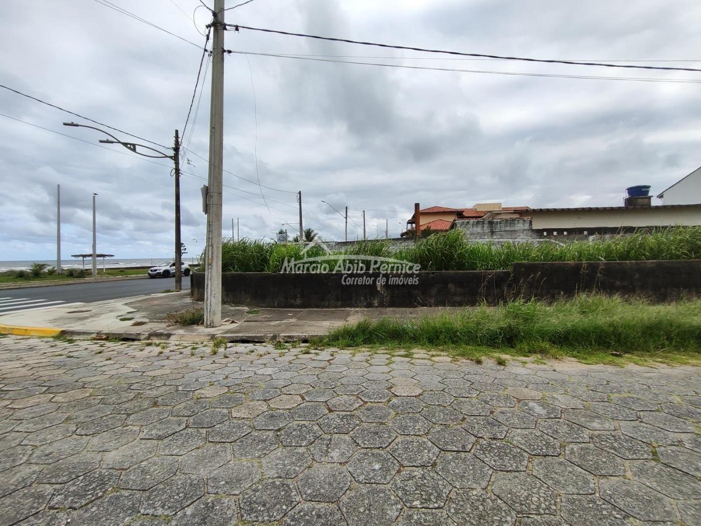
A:
[[[447,231],[456,220],[503,220],[517,219],[530,210],[527,206],[502,206],[501,203],[477,203],[472,208],[447,208],[431,206],[418,211],[418,232],[430,229],[433,232]],[[409,226],[411,225],[411,227]],[[407,221],[407,231],[412,235],[416,229],[416,213]]]

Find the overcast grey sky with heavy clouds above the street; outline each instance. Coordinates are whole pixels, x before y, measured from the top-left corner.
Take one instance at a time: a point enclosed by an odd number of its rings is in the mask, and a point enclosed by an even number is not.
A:
[[[210,15],[205,8],[193,14],[198,0],[112,3],[193,43],[205,41],[200,32]],[[701,4],[694,0],[254,0],[228,11],[226,21],[469,53],[697,60],[649,63],[701,67]],[[31,7],[3,0],[0,48],[0,83],[161,144],[172,144],[175,128],[182,132],[201,57],[191,43],[96,0],[36,0]],[[491,72],[701,79],[694,72],[456,60],[245,30],[227,32],[226,48]],[[193,152],[182,178],[182,238],[190,253],[200,252],[205,238],[199,188],[207,163],[195,154],[207,157],[209,90],[207,72],[191,139],[185,137]],[[231,55],[224,93],[224,168],[287,191],[263,188],[268,211],[257,184],[224,173],[227,236],[232,217],[240,218],[241,236],[271,238],[287,222],[296,229],[291,192],[300,189],[304,226],[324,238],[343,238],[343,219],[322,200],[341,212],[347,205],[360,225],[365,208],[369,235],[378,228],[384,235],[387,220],[397,236],[415,202],[620,205],[625,187],[651,184],[658,194],[701,165],[698,83]],[[172,257],[168,166],[118,146],[98,147],[104,135],[61,126],[85,121],[4,89],[0,113],[90,143],[0,116],[0,259],[55,256],[56,184],[64,256],[90,251],[95,192],[99,252]],[[348,234],[362,230],[349,222]]]

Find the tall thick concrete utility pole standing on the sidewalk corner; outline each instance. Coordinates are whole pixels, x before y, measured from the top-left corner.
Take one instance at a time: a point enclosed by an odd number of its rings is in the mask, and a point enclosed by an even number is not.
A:
[[[210,167],[207,177],[205,327],[222,325],[222,168],[224,157],[224,0],[215,0],[210,105]]]

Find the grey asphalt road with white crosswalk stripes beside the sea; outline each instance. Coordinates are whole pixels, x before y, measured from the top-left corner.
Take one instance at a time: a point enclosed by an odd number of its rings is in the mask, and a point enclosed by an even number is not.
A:
[[[189,290],[190,278],[182,278],[183,290]],[[35,306],[60,306],[62,303],[101,302],[105,299],[156,294],[165,289],[175,290],[175,278],[128,279],[93,283],[75,283],[53,287],[31,287],[0,290],[0,313]],[[43,302],[36,302],[43,300]]]

